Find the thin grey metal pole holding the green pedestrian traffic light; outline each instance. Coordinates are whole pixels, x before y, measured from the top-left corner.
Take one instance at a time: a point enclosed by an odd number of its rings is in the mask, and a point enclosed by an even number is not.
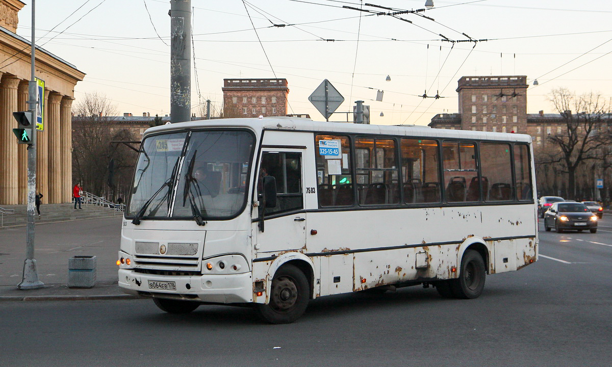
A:
[[[28,145],[28,233],[26,237],[26,260],[23,264],[23,278],[21,283],[17,285],[19,289],[36,289],[45,286],[42,281],[39,280],[38,270],[36,267],[36,259],[34,259],[34,204],[36,196],[36,143],[37,143],[37,131],[36,122],[37,114],[36,109],[39,101],[36,98],[37,83],[34,76],[34,11],[35,0],[32,0],[32,65],[31,65],[31,78],[28,83],[28,104],[29,111],[32,113],[32,144]]]

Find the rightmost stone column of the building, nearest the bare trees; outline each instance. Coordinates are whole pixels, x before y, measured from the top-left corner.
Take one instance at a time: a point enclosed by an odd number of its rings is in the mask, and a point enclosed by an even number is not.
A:
[[[62,195],[61,202],[72,201],[72,101],[74,98],[64,95],[61,115],[61,156],[62,156]]]

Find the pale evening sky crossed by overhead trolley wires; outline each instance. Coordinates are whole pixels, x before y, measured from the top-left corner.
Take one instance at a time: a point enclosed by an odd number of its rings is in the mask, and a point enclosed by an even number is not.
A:
[[[17,33],[31,39],[31,1],[23,1]],[[224,78],[286,78],[288,113],[313,120],[324,117],[308,96],[327,79],[345,98],[330,120],[352,120],[346,112],[363,100],[380,125],[457,113],[461,76],[526,75],[528,113],[554,113],[548,98],[561,87],[612,97],[612,2],[433,1],[393,17],[358,0],[191,0],[192,111],[207,99],[221,108]],[[416,10],[425,0],[367,3]],[[97,93],[118,114],[170,113],[170,1],[35,6],[36,44],[86,73],[75,103]],[[425,91],[443,98],[419,97]]]

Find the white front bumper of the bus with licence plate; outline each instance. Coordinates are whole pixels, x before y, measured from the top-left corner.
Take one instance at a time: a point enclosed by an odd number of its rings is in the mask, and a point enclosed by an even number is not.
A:
[[[211,303],[253,302],[251,273],[231,275],[154,275],[119,269],[119,287],[127,294]]]

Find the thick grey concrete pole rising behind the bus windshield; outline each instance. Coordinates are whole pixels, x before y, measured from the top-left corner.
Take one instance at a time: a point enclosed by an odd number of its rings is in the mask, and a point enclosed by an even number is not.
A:
[[[170,1],[170,122],[191,120],[191,0]]]

